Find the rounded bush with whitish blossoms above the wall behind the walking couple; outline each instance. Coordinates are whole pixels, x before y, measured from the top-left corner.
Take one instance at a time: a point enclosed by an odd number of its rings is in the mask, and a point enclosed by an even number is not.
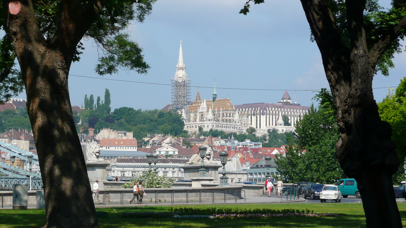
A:
[[[147,172],[137,174],[133,180],[124,183],[122,188],[133,188],[134,182],[143,181],[144,188],[167,188],[172,187],[175,181],[172,178],[166,178],[166,175],[159,176],[152,169],[148,169]]]

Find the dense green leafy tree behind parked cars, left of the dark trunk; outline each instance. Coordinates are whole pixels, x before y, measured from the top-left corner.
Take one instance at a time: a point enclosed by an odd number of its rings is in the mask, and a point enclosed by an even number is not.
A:
[[[345,177],[335,155],[337,120],[331,107],[322,105],[327,102],[328,99],[321,98],[318,110],[312,104],[309,114],[296,122],[296,138],[287,136],[286,156],[275,160],[285,181],[333,184]]]

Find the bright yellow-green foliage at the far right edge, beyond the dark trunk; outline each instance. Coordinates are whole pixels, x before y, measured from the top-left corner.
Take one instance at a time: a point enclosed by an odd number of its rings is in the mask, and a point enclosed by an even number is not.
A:
[[[393,183],[400,184],[404,181],[404,161],[406,158],[406,77],[400,80],[395,93],[389,89],[388,95],[378,103],[378,112],[382,120],[392,126],[392,140],[396,146],[400,166],[393,175]]]

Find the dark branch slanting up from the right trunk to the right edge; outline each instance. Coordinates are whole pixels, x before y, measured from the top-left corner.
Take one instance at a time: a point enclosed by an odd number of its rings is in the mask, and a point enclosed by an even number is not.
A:
[[[369,51],[369,61],[376,65],[382,54],[386,51],[386,49],[391,45],[393,41],[395,41],[406,29],[406,17],[404,17],[400,22],[398,22],[393,30],[387,34],[386,36],[382,37]]]

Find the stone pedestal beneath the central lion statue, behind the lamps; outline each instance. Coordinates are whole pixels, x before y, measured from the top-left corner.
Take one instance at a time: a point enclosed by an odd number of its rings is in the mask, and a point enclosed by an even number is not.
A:
[[[223,167],[217,163],[204,163],[204,168],[206,169],[207,177],[214,178],[214,181],[220,182],[218,179],[218,169]],[[180,166],[184,170],[184,180],[192,180],[192,178],[199,177],[199,170],[201,169],[201,165],[186,165]],[[199,177],[203,178],[203,177]],[[192,180],[193,183],[193,180]],[[193,184],[192,184],[193,185]]]

